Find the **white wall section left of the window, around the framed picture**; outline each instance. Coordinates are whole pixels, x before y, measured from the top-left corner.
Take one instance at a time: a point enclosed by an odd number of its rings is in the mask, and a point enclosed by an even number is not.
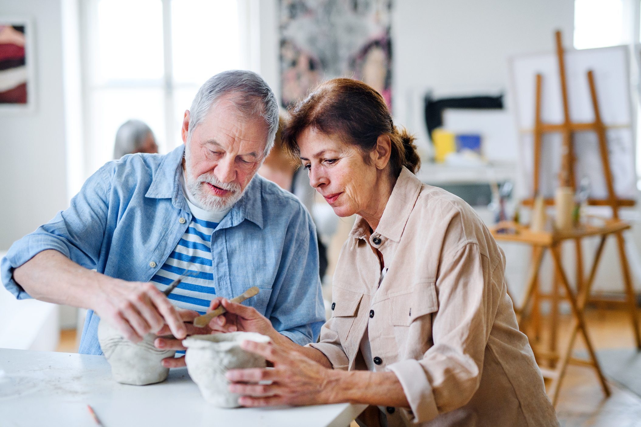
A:
[[[35,33],[33,113],[0,113],[0,250],[67,205],[60,2],[0,0]]]

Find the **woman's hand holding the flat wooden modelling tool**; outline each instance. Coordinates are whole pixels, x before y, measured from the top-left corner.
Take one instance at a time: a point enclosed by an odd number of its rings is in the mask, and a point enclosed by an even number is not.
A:
[[[267,335],[274,342],[281,340],[282,335],[274,329],[271,321],[254,307],[231,302],[219,296],[212,300],[209,311],[217,309],[220,305],[225,307],[227,312],[210,320],[208,326],[214,332],[258,332]]]

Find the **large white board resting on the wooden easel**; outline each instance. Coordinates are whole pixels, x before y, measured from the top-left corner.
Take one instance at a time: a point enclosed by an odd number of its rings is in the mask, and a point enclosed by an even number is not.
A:
[[[572,122],[593,122],[587,72],[594,72],[599,110],[608,131],[608,150],[615,193],[619,198],[636,198],[635,138],[629,81],[628,47],[565,52],[566,81]],[[533,195],[533,135],[535,120],[536,76],[542,74],[541,118],[548,124],[563,122],[563,101],[556,53],[527,54],[510,59],[511,96],[516,111],[519,138],[519,163],[523,172],[524,197]],[[587,177],[590,198],[607,197],[597,137],[592,132],[574,134],[576,182]],[[544,134],[541,152],[539,188],[545,197],[553,197],[558,186],[561,162],[560,134]]]

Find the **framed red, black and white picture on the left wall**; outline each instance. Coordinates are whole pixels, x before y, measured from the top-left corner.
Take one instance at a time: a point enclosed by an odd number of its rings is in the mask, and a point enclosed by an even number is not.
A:
[[[0,15],[0,111],[33,111],[35,78],[33,26]]]

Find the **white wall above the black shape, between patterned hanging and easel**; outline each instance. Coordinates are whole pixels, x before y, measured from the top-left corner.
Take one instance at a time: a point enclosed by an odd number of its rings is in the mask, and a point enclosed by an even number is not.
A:
[[[395,1],[395,122],[425,141],[426,90],[435,96],[506,92],[508,57],[551,51],[556,29],[572,46],[574,0]]]

